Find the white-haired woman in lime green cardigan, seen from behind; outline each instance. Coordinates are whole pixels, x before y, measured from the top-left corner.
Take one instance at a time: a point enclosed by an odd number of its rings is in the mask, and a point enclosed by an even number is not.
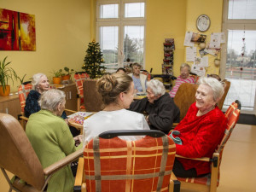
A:
[[[26,135],[32,143],[43,168],[82,148],[82,136],[73,137],[61,114],[65,108],[65,93],[48,90],[40,97],[41,110],[32,113],[26,124]],[[75,147],[75,142],[80,143]],[[47,191],[73,191],[74,177],[70,166],[61,168],[49,179]]]

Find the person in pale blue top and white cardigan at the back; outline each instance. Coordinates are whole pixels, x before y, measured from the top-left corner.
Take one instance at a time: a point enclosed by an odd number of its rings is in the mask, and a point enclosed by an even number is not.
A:
[[[147,75],[141,74],[142,66],[138,64],[137,62],[132,64],[131,70],[132,73],[129,74],[133,80],[134,83],[134,89],[137,90],[137,92],[146,92],[147,89]]]

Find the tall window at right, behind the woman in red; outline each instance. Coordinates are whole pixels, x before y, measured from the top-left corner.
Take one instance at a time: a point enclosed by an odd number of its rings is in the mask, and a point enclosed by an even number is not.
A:
[[[256,113],[256,0],[224,0],[226,44],[222,48],[221,77],[230,81],[224,101],[236,99],[241,113]]]

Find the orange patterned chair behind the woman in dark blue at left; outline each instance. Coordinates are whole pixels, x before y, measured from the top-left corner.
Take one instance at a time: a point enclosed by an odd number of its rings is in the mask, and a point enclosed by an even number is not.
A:
[[[21,107],[19,120],[21,120],[21,125],[24,130],[26,128],[26,121],[27,121],[27,118],[24,116],[26,97],[29,94],[30,90],[32,90],[32,84],[30,84],[30,83],[31,82],[27,82],[27,84],[20,84],[20,87],[18,89],[18,94],[19,94],[19,99],[20,99],[20,107]]]

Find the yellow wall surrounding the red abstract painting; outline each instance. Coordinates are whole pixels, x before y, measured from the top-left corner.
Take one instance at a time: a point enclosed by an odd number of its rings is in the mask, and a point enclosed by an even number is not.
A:
[[[26,80],[34,73],[49,73],[63,67],[81,71],[85,50],[90,42],[90,0],[0,0],[2,9],[35,15],[36,51],[0,51],[8,55],[19,76]],[[12,91],[20,83],[15,82]]]

